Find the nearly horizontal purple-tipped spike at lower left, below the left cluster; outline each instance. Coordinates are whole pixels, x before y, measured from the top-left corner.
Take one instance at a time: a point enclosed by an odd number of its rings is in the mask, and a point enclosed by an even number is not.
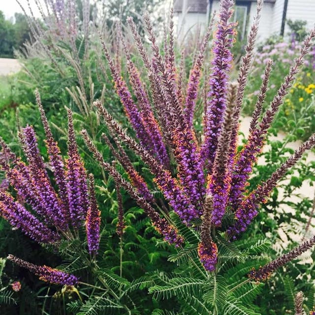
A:
[[[7,259],[11,260],[20,267],[28,269],[39,277],[40,280],[51,284],[75,285],[79,281],[74,275],[67,274],[61,270],[53,269],[45,265],[37,266],[13,255],[8,255]]]

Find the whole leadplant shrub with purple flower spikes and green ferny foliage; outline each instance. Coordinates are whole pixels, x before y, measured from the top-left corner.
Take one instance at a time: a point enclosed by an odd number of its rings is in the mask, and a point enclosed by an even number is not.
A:
[[[283,274],[281,267],[291,266],[294,259],[312,248],[315,236],[276,256],[266,231],[261,226],[254,230],[253,226],[258,225],[257,215],[264,215],[259,213],[261,205],[268,201],[277,183],[315,145],[315,135],[291,156],[281,155],[284,161],[279,167],[272,163],[274,157],[270,153],[271,169],[261,176],[263,180],[257,180],[255,175],[260,174],[253,174],[253,169],[267,142],[268,129],[311,48],[315,30],[305,38],[299,56],[264,111],[273,66],[272,61],[267,62],[249,137],[239,146],[239,119],[252,69],[262,2],[257,1],[236,82],[230,79],[236,35],[236,26],[229,22],[233,0],[221,0],[210,68],[206,69],[204,59],[213,21],[195,54],[187,85],[182,77],[184,58],[178,67],[175,57],[172,11],[163,54],[147,14],[144,24],[151,52],[146,50],[132,18],[127,19],[144,69],[133,62],[129,43],[117,24],[128,81],[121,76],[119,63],[99,33],[128,120],[122,126],[114,118],[117,112],[110,113],[111,106],[103,102],[103,97],[93,103],[92,93],[87,103],[83,88],[76,89],[73,96],[78,107],[83,106],[82,116],[89,117],[94,105],[105,123],[100,128],[105,131],[101,138],[106,147],[102,148],[98,141],[98,128],[91,126],[89,132],[95,131],[91,137],[86,129],[81,131],[95,161],[109,174],[100,176],[94,165],[95,178],[101,184],[100,195],[105,196],[104,203],[110,200],[106,207],[99,203],[102,211],[97,205],[94,177],[86,174],[79,154],[70,110],[66,159],[52,136],[38,93],[49,163],[44,163],[39,154],[32,126],[23,128],[20,134],[27,162],[1,140],[0,165],[6,175],[0,188],[1,216],[46,251],[58,253],[65,263],[52,268],[12,254],[8,259],[45,282],[64,285],[54,294],[56,298],[62,296],[63,314],[267,315],[288,310],[292,313],[294,308],[296,315],[304,310],[312,314],[314,287],[305,291],[304,305],[304,296],[297,292],[293,280],[302,268],[295,266],[292,272]],[[54,25],[62,32],[59,27]],[[205,80],[203,72],[210,75],[204,87],[206,95],[200,91],[200,83]],[[196,117],[199,104],[203,106],[202,119]],[[124,123],[125,119],[120,121]],[[110,191],[113,186],[115,190]],[[114,192],[117,201],[113,200]],[[126,193],[139,208],[133,207]],[[115,220],[110,215],[113,208],[117,208]],[[271,285],[263,284],[267,280]],[[10,285],[13,290],[21,290],[17,282]],[[274,294],[278,285],[282,285],[280,294],[288,300],[285,305],[278,303]],[[259,295],[261,300],[257,299]],[[7,285],[0,303],[10,302],[11,298]],[[45,306],[41,314],[44,312]]]

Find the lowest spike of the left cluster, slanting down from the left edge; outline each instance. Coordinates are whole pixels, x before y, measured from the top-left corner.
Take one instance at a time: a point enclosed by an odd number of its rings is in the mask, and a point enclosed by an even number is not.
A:
[[[40,222],[24,206],[0,189],[0,215],[12,226],[21,229],[26,235],[39,243],[55,243],[59,235]]]

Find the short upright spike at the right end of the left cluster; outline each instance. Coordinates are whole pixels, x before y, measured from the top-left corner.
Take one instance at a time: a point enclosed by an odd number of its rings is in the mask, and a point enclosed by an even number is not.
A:
[[[86,218],[86,230],[89,252],[96,255],[99,248],[100,211],[96,202],[94,177],[92,174],[89,175],[89,182],[91,200]]]

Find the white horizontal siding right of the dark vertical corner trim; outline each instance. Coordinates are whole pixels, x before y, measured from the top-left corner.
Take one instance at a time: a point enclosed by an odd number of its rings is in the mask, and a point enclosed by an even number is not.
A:
[[[286,19],[305,20],[306,27],[311,30],[315,24],[315,0],[289,0]],[[288,31],[288,27],[285,26],[284,33]]]

